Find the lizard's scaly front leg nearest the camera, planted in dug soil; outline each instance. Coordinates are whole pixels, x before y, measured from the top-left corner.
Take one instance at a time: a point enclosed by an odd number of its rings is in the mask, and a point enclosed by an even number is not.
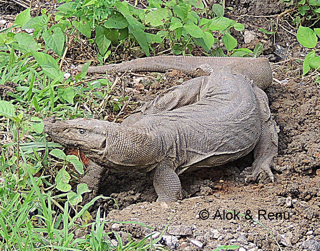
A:
[[[161,161],[151,172],[150,178],[156,190],[156,201],[176,201],[182,199],[182,189],[178,174],[169,160]]]

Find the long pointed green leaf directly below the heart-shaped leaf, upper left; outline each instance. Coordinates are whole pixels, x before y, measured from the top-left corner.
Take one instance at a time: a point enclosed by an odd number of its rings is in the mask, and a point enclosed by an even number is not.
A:
[[[52,56],[43,52],[32,52],[32,55],[48,77],[59,81],[63,79],[63,74]]]

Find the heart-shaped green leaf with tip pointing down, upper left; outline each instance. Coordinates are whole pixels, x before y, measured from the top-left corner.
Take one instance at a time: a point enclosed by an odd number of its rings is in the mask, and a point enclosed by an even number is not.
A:
[[[48,46],[52,51],[57,53],[59,56],[63,54],[63,48],[66,42],[66,36],[63,34],[61,28],[56,27],[53,29],[53,33],[50,31],[42,34],[45,45]]]

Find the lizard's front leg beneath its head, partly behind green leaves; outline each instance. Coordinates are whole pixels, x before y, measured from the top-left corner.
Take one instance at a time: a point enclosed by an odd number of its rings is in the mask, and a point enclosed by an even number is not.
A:
[[[105,172],[106,168],[97,165],[91,160],[89,161],[87,165],[87,172],[83,176],[81,183],[86,183],[91,192],[88,192],[84,195],[82,201],[83,205],[88,203],[90,200],[97,196],[100,186],[100,180],[102,176],[105,174]]]

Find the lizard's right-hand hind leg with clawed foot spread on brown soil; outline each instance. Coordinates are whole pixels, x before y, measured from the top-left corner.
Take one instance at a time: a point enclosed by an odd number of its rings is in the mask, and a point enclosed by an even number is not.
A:
[[[266,93],[256,86],[253,88],[259,106],[261,134],[254,147],[252,166],[244,169],[240,176],[244,177],[244,181],[248,183],[256,181],[259,174],[265,172],[271,182],[274,182],[275,176],[271,171],[271,167],[273,166],[273,159],[278,152],[278,127],[271,117]]]

